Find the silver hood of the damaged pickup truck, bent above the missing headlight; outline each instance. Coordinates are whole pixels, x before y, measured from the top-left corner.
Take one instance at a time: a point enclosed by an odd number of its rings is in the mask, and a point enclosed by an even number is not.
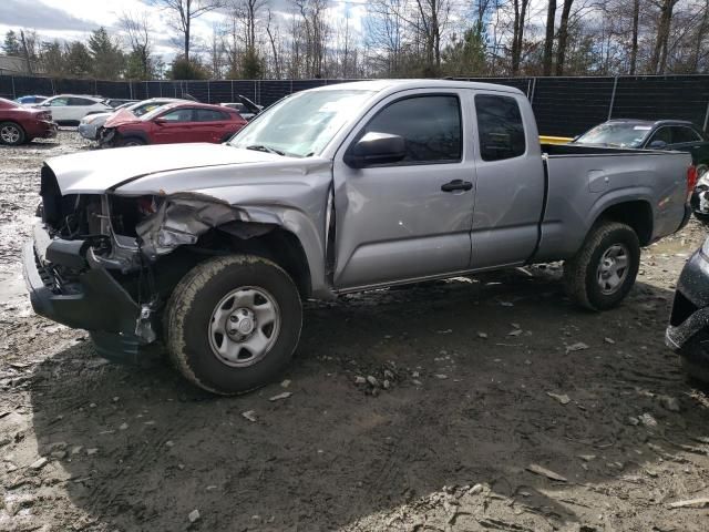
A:
[[[226,144],[163,144],[94,150],[49,158],[47,164],[62,194],[103,194],[119,185],[156,173],[226,165],[297,162],[271,153]],[[165,177],[169,180],[171,177]],[[169,188],[166,184],[163,188]]]

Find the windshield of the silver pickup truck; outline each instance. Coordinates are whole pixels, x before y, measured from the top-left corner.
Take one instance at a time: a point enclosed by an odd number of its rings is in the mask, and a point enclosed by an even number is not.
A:
[[[296,93],[259,114],[229,144],[291,157],[317,155],[371,95],[348,90]]]

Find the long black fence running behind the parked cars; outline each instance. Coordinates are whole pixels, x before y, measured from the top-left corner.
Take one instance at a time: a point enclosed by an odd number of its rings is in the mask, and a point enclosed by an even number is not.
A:
[[[545,135],[579,134],[610,117],[690,120],[709,126],[709,75],[597,78],[459,78],[522,90]],[[260,105],[315,86],[356,80],[96,81],[0,75],[0,98],[24,94],[96,94],[142,100],[191,94],[202,102],[243,94]]]

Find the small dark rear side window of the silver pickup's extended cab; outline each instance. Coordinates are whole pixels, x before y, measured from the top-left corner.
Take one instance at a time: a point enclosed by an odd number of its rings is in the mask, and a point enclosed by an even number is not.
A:
[[[524,124],[514,98],[477,94],[475,113],[483,161],[501,161],[524,154]]]

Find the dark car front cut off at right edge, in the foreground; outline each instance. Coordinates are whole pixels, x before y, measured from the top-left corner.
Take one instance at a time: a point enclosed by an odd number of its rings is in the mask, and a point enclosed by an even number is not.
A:
[[[665,342],[690,379],[709,383],[709,238],[679,276]]]

